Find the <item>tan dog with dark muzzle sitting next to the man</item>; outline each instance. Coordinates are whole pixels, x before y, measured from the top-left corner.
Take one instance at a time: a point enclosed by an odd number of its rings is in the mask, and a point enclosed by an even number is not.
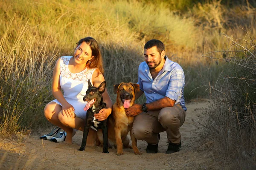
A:
[[[131,132],[131,127],[134,122],[134,117],[127,116],[125,108],[129,108],[134,104],[135,93],[140,92],[140,85],[134,83],[120,83],[114,85],[114,93],[117,94],[116,102],[113,105],[112,113],[108,118],[108,140],[109,143],[116,144],[116,155],[123,155],[123,146],[133,148],[136,155],[141,155],[137,147],[137,139]],[[130,131],[130,140],[128,139],[128,132]],[[99,137],[99,140],[102,140]]]

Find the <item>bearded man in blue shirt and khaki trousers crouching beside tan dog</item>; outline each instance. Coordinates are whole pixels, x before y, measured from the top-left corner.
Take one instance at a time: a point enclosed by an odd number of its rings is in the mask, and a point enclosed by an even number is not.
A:
[[[180,126],[186,117],[183,95],[185,77],[183,69],[165,55],[163,42],[149,40],[144,46],[145,62],[139,66],[140,94],[146,96],[143,105],[134,104],[126,109],[135,116],[132,133],[138,140],[148,143],[147,153],[157,153],[160,132],[166,131],[169,142],[166,153],[180,150]]]

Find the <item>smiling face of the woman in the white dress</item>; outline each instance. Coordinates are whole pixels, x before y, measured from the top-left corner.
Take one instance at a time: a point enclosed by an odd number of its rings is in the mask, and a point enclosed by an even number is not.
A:
[[[74,52],[74,59],[77,64],[86,64],[88,60],[92,59],[92,50],[90,45],[86,42],[82,42],[76,47]]]

